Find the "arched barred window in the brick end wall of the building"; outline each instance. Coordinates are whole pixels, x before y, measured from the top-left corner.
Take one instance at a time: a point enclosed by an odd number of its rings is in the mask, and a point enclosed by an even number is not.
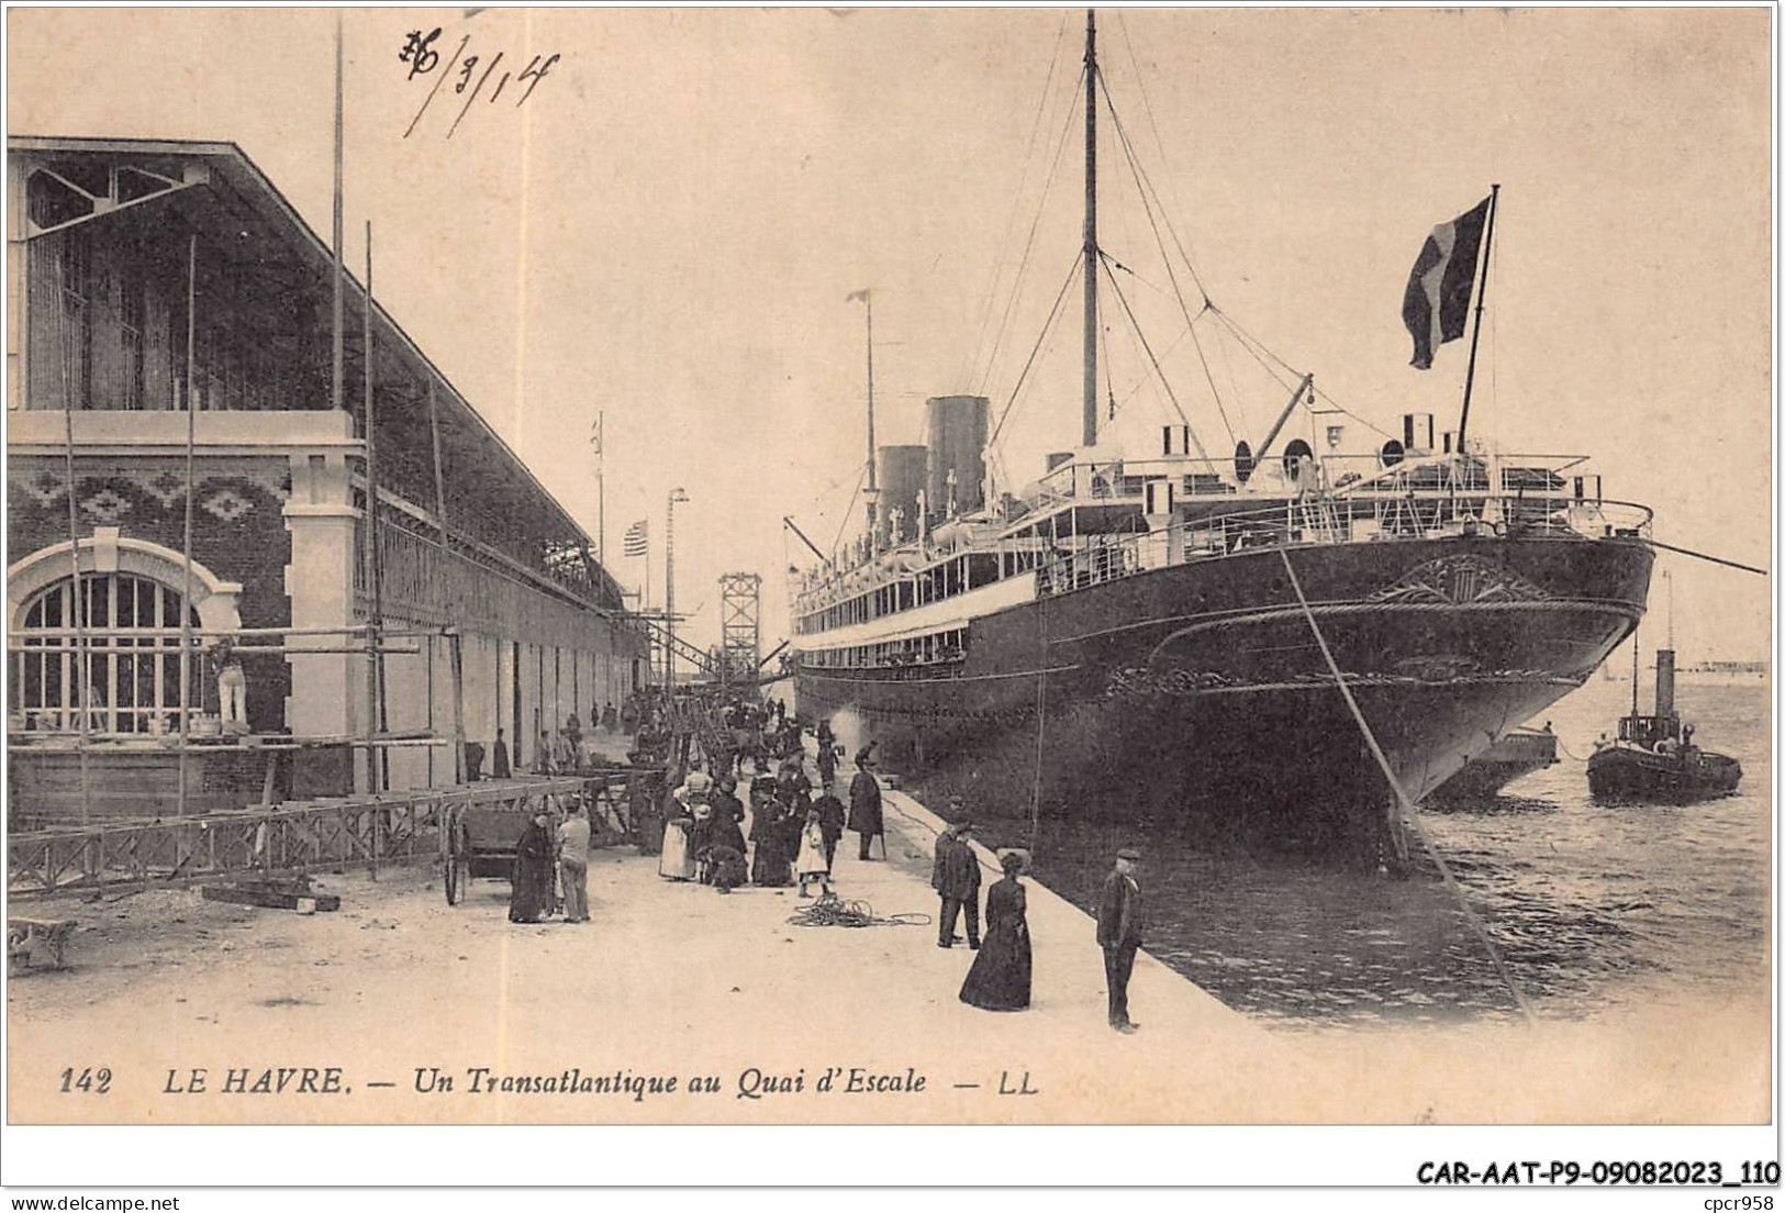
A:
[[[161,734],[180,731],[182,597],[148,577],[80,577],[87,629],[89,732]],[[80,729],[80,675],[75,636],[75,586],[55,581],[25,604],[14,636],[11,704],[14,727]],[[198,611],[187,609],[193,629]],[[37,634],[34,634],[37,632]],[[189,659],[189,711],[203,706],[202,656]]]

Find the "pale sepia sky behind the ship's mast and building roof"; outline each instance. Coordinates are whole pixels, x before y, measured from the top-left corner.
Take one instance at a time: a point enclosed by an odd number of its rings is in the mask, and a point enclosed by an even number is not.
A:
[[[1471,432],[1589,454],[1656,538],[1769,566],[1769,18],[1141,9],[1103,13],[1100,46],[1162,243],[1357,418],[1323,422],[1455,425],[1467,352],[1410,368],[1401,293],[1432,225],[1499,182]],[[332,11],[7,21],[9,132],[232,139],[327,234]],[[411,77],[405,39],[436,27],[439,61]],[[1076,293],[1042,334],[1080,239],[1082,9],[348,9],[343,29],[348,264],[371,220],[380,302],[591,534],[605,414],[609,565],[643,581],[619,538],[648,518],[655,602],[666,498],[687,491],[696,641],[718,641],[725,572],[762,573],[764,650],[785,634],[803,545],[784,514],[821,547],[846,534],[868,443],[851,291],[873,289],[882,443],[921,441],[930,395],[1003,414],[1037,343],[1005,481],[1076,443]],[[464,95],[461,43],[468,86],[502,54]],[[1192,314],[1201,298],[1100,121],[1112,273],[1210,454],[1257,445],[1287,372],[1210,316],[1201,359],[1183,339],[1171,273]],[[1110,441],[1150,454],[1173,404],[1125,323],[1105,343]],[[1765,579],[1660,568],[1681,661],[1769,650]],[[1660,625],[1665,598],[1656,577]]]

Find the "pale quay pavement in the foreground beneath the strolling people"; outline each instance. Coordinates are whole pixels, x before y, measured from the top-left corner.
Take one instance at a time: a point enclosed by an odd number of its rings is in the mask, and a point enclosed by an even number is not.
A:
[[[1130,986],[1142,1027],[1123,1036],[1105,1024],[1092,920],[1035,881],[1032,1008],[969,1008],[957,995],[975,954],[935,947],[941,822],[901,791],[885,800],[889,859],[860,863],[844,834],[835,891],[930,925],[793,925],[812,904],[793,888],[719,895],[659,877],[630,847],[591,854],[585,925],[509,924],[507,881],[475,881],[446,906],[425,866],[321,877],[341,909],[318,915],[195,890],[18,902],[82,931],[71,968],[9,983],[11,1115],[1442,1124],[1765,1111],[1765,1065],[1756,1081],[1740,1043],[1753,1024],[1728,1009],[1690,1034],[1673,1020],[1283,1033],[1142,956]],[[61,1093],[70,1067],[109,1068],[109,1092]]]

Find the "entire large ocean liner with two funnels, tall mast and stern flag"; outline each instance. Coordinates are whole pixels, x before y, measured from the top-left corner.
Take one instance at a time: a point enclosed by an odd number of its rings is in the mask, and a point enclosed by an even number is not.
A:
[[[794,584],[798,711],[1010,813],[1139,811],[1405,854],[1383,768],[1419,800],[1589,679],[1642,618],[1651,514],[1606,500],[1583,459],[1471,438],[1469,388],[1455,432],[1405,414],[1366,452],[1341,448],[1312,375],[1232,457],[1182,413],[1139,457],[1100,445],[1100,277],[1132,309],[1126,266],[1098,243],[1094,14],[1080,88],[1082,445],[1003,491],[985,397],[932,398],[928,443],[878,464],[869,413],[866,532],[830,557],[814,547]],[[1464,336],[1471,298],[1480,336],[1496,198],[1433,230],[1414,266],[1416,366]],[[1287,438],[1296,413],[1307,439]]]

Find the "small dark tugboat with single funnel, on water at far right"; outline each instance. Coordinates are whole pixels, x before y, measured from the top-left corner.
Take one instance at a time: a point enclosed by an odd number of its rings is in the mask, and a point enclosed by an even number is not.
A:
[[[1635,648],[1631,650],[1635,663]],[[1587,759],[1592,799],[1606,804],[1685,804],[1723,797],[1742,782],[1742,765],[1692,743],[1692,725],[1674,711],[1674,652],[1655,654],[1655,715],[1637,706],[1631,670],[1630,715],[1617,722],[1617,740],[1601,738]]]

